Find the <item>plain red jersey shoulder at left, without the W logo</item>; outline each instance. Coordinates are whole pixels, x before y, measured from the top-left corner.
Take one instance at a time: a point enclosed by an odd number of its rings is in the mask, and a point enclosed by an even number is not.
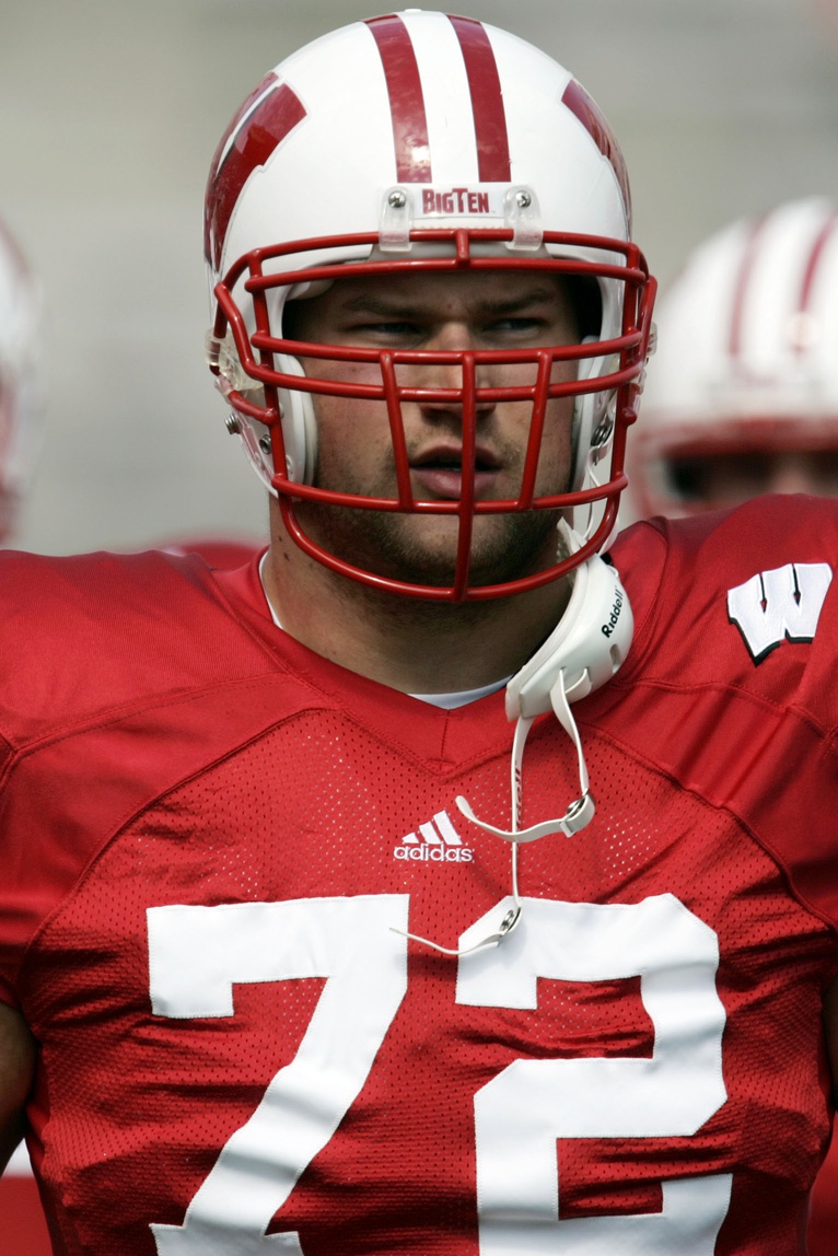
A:
[[[197,555],[0,551],[0,735],[235,679],[261,664]]]

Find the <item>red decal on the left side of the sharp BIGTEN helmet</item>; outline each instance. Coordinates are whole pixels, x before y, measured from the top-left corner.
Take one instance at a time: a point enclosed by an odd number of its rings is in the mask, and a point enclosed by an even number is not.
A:
[[[270,73],[227,127],[210,167],[204,221],[204,250],[215,270],[242,187],[304,117],[299,97]]]

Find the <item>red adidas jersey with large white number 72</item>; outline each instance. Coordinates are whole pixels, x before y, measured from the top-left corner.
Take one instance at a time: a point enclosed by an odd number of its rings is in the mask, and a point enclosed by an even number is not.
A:
[[[521,849],[503,693],[274,627],[255,563],[0,555],[0,990],[67,1256],[803,1251],[838,947],[838,505],[638,524]],[[529,825],[578,793],[539,718]]]

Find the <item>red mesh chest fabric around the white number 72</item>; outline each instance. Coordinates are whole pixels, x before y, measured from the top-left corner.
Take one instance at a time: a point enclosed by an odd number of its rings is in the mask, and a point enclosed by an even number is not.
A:
[[[827,1132],[809,1061],[834,963],[829,931],[730,818],[606,741],[588,737],[587,755],[598,818],[574,839],[526,848],[521,892],[583,903],[666,892],[716,931],[729,1102],[690,1138],[560,1139],[560,1215],[655,1212],[666,1178],[735,1171],[717,1256],[788,1256]],[[506,755],[431,770],[342,712],[307,712],[111,843],[21,980],[44,1051],[43,1174],[64,1203],[68,1256],[153,1256],[150,1222],[182,1223],[221,1147],[294,1059],[323,988],[241,985],[231,1019],[155,1016],[146,909],[406,893],[411,929],[454,946],[509,892],[506,845],[469,825],[454,799],[506,824],[508,770]],[[555,814],[574,770],[567,737],[541,721],[525,821]],[[450,849],[471,862],[397,857],[442,810],[462,839]],[[651,1055],[636,980],[541,980],[536,1010],[484,1009],[457,1004],[456,971],[411,945],[405,1000],[357,1102],[270,1225],[299,1232],[305,1256],[477,1256],[475,1094],[518,1059]]]

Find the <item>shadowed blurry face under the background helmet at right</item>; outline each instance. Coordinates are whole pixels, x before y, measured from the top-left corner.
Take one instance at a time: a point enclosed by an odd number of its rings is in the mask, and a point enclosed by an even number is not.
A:
[[[685,497],[735,506],[764,492],[838,497],[838,450],[749,450],[677,458],[672,467]]]

